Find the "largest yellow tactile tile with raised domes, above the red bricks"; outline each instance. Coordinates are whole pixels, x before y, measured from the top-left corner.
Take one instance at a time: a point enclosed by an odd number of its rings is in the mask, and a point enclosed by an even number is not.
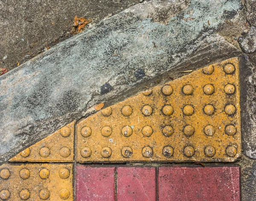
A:
[[[209,65],[87,117],[77,161],[235,161],[241,156],[239,62]]]

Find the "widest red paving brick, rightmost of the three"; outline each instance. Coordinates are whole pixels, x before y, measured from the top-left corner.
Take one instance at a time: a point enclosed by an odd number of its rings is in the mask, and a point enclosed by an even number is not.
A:
[[[239,167],[160,167],[159,201],[240,201]]]

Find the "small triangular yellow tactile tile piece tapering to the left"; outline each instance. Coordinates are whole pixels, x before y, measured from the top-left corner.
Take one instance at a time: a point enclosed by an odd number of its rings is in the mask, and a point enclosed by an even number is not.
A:
[[[74,161],[75,122],[23,150],[9,161],[72,162]]]

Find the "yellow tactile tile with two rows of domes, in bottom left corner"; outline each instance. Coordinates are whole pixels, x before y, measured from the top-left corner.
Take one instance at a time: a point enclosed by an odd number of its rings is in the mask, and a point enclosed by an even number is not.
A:
[[[73,201],[73,164],[4,164],[0,200]]]

